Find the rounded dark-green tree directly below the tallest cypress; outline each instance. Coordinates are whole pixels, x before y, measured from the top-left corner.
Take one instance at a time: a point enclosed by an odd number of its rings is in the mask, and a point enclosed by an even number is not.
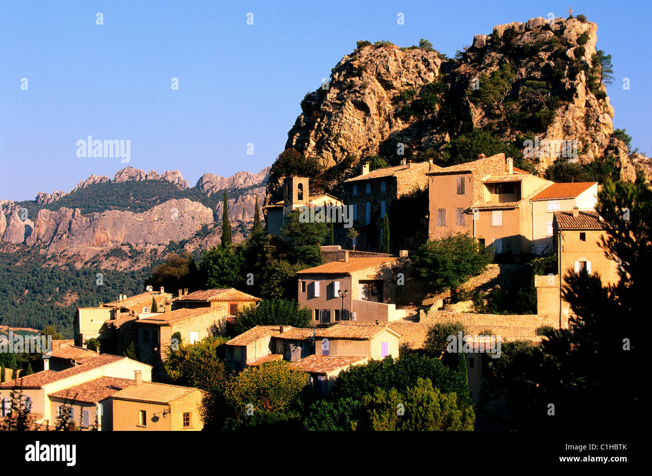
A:
[[[209,288],[239,288],[243,283],[241,246],[214,246],[201,257],[200,273]]]

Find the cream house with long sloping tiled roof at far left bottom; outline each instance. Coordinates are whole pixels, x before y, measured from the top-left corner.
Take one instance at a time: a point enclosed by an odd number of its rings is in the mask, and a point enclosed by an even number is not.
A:
[[[30,412],[50,422],[55,421],[57,413],[52,412],[50,395],[59,390],[67,389],[74,385],[89,382],[102,376],[130,378],[134,371],[140,370],[144,380],[151,380],[151,365],[141,363],[127,357],[111,356],[102,354],[92,359],[87,359],[82,365],[72,367],[65,371],[52,371],[48,368],[48,359],[44,359],[46,370],[26,375],[16,380],[0,384],[0,399],[2,399],[3,415],[10,406],[11,395],[14,389],[22,389],[25,404],[29,404]],[[97,406],[100,416],[104,410],[104,404]]]

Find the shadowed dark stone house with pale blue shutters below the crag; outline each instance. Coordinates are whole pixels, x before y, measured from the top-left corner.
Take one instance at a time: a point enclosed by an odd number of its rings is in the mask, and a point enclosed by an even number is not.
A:
[[[355,248],[376,249],[382,237],[382,219],[392,209],[396,200],[415,188],[426,188],[426,173],[440,169],[432,162],[413,163],[402,160],[400,165],[369,171],[365,162],[361,175],[344,181],[344,203],[351,207],[353,227],[360,233]]]

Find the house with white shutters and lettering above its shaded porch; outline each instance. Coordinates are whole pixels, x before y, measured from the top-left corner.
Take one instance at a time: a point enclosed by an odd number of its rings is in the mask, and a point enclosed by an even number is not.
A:
[[[402,319],[406,311],[396,309],[396,275],[404,256],[351,257],[297,272],[297,294],[301,307],[310,307],[314,324],[340,320],[388,322]]]

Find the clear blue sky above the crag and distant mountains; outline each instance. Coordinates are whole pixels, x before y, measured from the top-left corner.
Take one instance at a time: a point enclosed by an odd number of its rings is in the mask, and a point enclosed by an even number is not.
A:
[[[357,40],[411,46],[428,38],[452,56],[494,25],[549,12],[565,18],[569,1],[5,1],[0,199],[68,191],[126,165],[179,169],[190,186],[203,173],[258,172],[284,149],[304,94]],[[614,126],[651,154],[651,3],[572,8],[598,24],[597,46],[612,54]],[[254,25],[246,24],[249,12]],[[404,25],[396,23],[398,12]],[[78,158],[76,141],[87,135],[130,139],[130,163]]]

